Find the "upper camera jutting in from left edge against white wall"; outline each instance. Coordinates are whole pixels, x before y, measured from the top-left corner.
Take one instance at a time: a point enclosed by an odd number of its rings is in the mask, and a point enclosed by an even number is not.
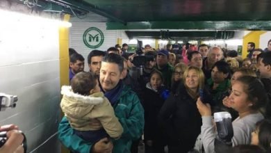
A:
[[[0,111],[6,111],[6,108],[15,108],[17,101],[16,95],[6,95],[0,92]]]

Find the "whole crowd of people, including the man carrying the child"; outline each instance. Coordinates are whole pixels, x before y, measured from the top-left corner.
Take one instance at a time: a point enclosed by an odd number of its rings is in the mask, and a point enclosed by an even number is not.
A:
[[[271,40],[267,49],[247,48],[243,59],[204,44],[145,45],[140,55],[115,45],[90,51],[88,72],[69,49],[58,138],[71,152],[137,153],[143,144],[146,153],[212,153],[212,115],[227,111],[231,152],[271,152]]]

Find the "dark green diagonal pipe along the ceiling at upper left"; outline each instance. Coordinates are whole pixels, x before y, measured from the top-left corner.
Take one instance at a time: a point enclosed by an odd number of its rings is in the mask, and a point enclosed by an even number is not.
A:
[[[94,6],[92,4],[88,4],[88,3],[78,3],[76,1],[70,1],[70,0],[47,0],[47,1],[52,1],[52,2],[60,2],[60,3],[63,3],[67,6],[72,6],[74,8],[78,8],[78,9],[81,9],[81,10],[86,10],[86,11],[90,11],[92,13],[96,13],[97,15],[101,15],[103,17],[106,17],[108,19],[112,19],[114,22],[120,22],[124,25],[126,25],[126,22],[124,22],[122,19],[119,19],[117,17],[114,17],[113,15],[110,15],[108,13],[105,13],[104,11],[100,10],[97,6]]]

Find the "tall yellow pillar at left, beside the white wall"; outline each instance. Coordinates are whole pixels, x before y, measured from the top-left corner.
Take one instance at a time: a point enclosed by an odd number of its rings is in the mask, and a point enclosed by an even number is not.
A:
[[[68,22],[70,15],[65,15],[63,21]],[[59,60],[60,60],[60,87],[69,85],[69,28],[59,28]],[[61,112],[61,116],[63,113]],[[63,145],[61,146],[62,153],[69,153],[69,150]]]

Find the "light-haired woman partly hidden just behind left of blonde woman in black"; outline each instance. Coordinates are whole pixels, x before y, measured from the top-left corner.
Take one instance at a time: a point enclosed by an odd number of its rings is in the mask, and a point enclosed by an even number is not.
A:
[[[173,93],[176,92],[179,84],[183,81],[183,72],[186,71],[187,65],[185,63],[178,63],[174,67],[173,75],[172,75],[172,86],[171,91]]]

